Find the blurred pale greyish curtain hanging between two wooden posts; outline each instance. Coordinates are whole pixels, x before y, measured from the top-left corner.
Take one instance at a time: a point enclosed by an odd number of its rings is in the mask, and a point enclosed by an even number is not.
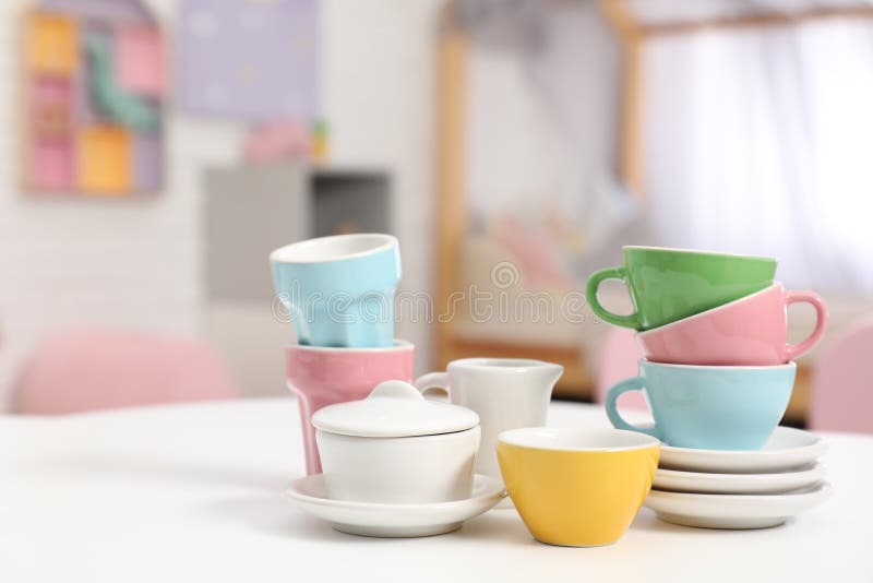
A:
[[[620,50],[594,2],[467,0],[470,203],[529,201],[574,222],[615,164]],[[494,8],[495,7],[495,8]],[[488,9],[491,8],[489,11]]]

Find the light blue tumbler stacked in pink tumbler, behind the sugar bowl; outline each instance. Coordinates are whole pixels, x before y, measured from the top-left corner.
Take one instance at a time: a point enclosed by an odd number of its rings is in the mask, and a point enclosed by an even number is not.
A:
[[[307,474],[321,472],[312,415],[364,398],[386,380],[412,380],[414,346],[394,338],[400,279],[395,237],[338,235],[288,245],[270,254],[277,298],[297,343],[286,350],[288,389],[298,396]]]

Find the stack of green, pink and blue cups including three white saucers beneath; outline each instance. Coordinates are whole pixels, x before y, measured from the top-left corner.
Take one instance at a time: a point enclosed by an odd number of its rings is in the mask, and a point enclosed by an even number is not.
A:
[[[625,247],[624,265],[594,273],[587,299],[605,321],[637,331],[639,376],[609,389],[612,425],[661,440],[646,505],[667,522],[761,528],[824,500],[821,440],[777,427],[794,385],[793,359],[824,333],[827,308],[812,291],[774,282],[776,260],[706,251]],[[597,299],[603,279],[623,279],[635,311],[620,316]],[[789,305],[817,314],[802,343],[787,341]],[[642,391],[654,427],[629,424],[617,403]]]

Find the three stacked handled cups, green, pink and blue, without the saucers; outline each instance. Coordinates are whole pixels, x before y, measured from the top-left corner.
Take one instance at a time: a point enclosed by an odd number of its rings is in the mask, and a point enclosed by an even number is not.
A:
[[[668,445],[758,450],[785,414],[794,385],[793,359],[821,338],[827,308],[812,291],[787,291],[774,282],[776,260],[705,251],[624,247],[624,265],[588,278],[587,299],[603,321],[632,328],[645,354],[639,376],[609,389],[607,414],[620,429],[642,431]],[[605,279],[625,282],[635,310],[605,309]],[[787,341],[786,308],[808,302],[817,321],[798,345]],[[654,427],[626,423],[615,404],[643,391]]]

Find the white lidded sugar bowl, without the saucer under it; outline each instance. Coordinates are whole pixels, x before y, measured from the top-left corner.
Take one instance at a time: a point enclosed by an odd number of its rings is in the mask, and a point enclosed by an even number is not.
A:
[[[386,381],[367,398],[320,409],[312,425],[333,500],[408,504],[471,493],[481,431],[470,409]]]

